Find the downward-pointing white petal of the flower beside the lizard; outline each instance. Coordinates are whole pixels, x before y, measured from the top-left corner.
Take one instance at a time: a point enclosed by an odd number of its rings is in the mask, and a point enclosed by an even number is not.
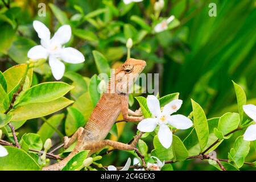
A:
[[[164,148],[171,147],[172,144],[172,132],[168,126],[162,124],[159,127],[158,139]]]

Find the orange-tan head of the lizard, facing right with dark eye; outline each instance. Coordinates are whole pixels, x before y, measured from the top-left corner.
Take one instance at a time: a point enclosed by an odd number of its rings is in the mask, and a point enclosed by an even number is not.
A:
[[[146,67],[146,61],[138,59],[127,59],[122,66],[115,71],[115,92],[128,94],[131,86]]]

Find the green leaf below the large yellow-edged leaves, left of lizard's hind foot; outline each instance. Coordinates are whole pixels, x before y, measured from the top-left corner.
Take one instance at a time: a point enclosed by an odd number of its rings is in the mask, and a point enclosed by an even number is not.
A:
[[[60,125],[61,121],[63,120],[65,114],[55,114],[52,117],[47,119],[47,122],[43,123],[43,125],[40,127],[40,129],[38,130],[38,133],[43,141],[46,142],[46,140],[48,138],[52,138],[53,134],[55,133],[56,130],[52,129],[51,126],[55,127],[55,129],[57,129],[57,127]],[[49,126],[49,124],[51,124],[51,126]]]

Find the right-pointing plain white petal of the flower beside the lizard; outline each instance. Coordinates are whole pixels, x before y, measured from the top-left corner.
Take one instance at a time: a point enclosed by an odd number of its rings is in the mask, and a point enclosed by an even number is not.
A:
[[[176,127],[176,129],[186,130],[193,125],[192,121],[181,114],[171,115],[167,118],[170,125]]]

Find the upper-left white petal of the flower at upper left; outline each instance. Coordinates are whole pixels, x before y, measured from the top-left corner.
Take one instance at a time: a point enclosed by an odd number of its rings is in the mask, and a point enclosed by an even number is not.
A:
[[[51,38],[51,32],[49,31],[49,28],[47,28],[45,24],[39,22],[38,20],[33,22],[33,27],[38,33],[38,37],[41,39],[42,46],[47,47]]]

